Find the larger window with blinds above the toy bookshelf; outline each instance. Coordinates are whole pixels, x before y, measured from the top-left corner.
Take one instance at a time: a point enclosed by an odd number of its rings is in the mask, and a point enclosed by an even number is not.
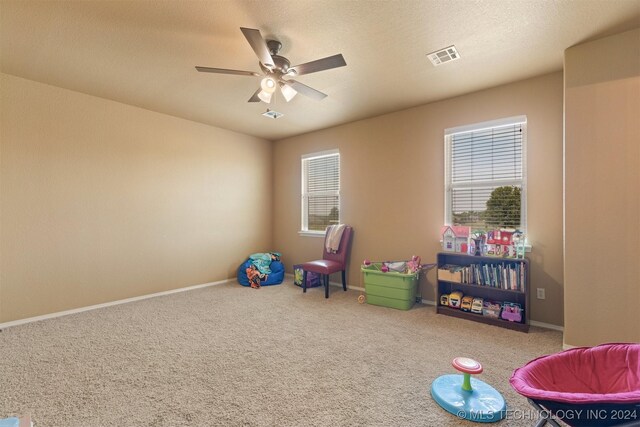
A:
[[[525,116],[445,130],[445,224],[526,231]]]

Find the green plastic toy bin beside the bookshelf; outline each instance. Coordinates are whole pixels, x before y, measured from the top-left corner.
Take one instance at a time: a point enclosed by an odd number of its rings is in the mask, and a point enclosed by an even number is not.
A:
[[[394,271],[383,273],[381,264],[362,266],[367,303],[409,310],[416,302],[418,275]]]

